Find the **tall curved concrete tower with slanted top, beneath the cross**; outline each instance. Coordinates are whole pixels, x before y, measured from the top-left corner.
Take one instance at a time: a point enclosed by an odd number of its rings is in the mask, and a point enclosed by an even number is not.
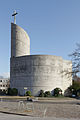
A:
[[[11,57],[30,55],[28,34],[18,25],[11,23]]]

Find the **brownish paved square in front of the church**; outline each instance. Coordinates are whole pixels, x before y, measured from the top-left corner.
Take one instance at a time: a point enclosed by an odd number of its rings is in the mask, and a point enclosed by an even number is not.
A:
[[[17,99],[1,99],[0,114],[3,113],[6,113],[7,116],[24,115],[24,120],[27,118],[29,120],[34,120],[34,118],[36,120],[80,120],[80,100],[54,99],[27,102],[17,101]],[[1,119],[4,120],[0,117]]]

